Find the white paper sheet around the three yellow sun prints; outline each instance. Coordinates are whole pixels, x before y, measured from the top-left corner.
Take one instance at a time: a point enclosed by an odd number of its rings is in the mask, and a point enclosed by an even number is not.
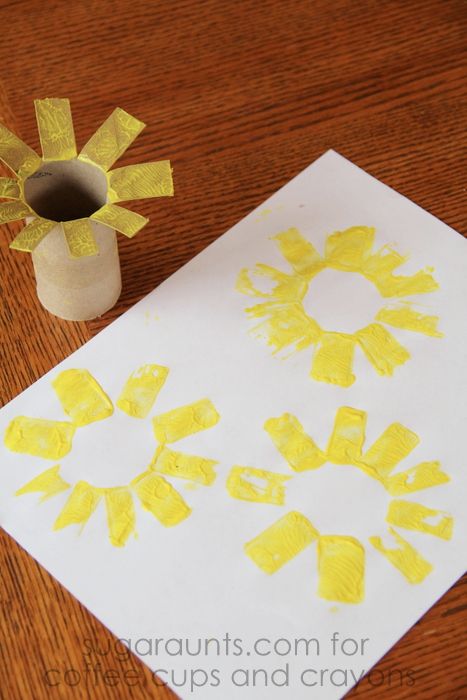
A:
[[[286,358],[274,356],[252,335],[245,313],[261,300],[235,286],[240,270],[256,263],[290,272],[271,236],[296,227],[322,254],[329,234],[352,226],[376,229],[375,250],[389,245],[409,256],[395,274],[433,268],[439,289],[408,298],[422,313],[439,317],[444,336],[387,326],[410,359],[393,376],[381,376],[357,349],[356,380],[346,388],[310,378],[311,346]],[[63,421],[67,417],[51,382],[64,369],[89,370],[115,404],[136,368],[145,363],[170,368],[148,418],[130,418],[116,409],[111,418],[79,428],[73,449],[61,460],[18,454],[2,444],[2,526],[118,638],[128,640],[150,668],[163,669],[161,678],[183,698],[342,696],[465,568],[466,263],[465,241],[455,231],[341,156],[326,153],[1,410],[2,433],[19,415]],[[358,280],[351,283],[343,272],[325,272],[321,281],[317,275],[310,283],[310,288],[316,283],[310,303],[326,327],[361,328],[372,322],[376,303],[380,308],[392,301],[375,298],[374,286],[361,276],[352,275]],[[217,479],[187,489],[181,479],[167,477],[192,508],[179,525],[164,527],[135,499],[138,537],[117,548],[108,539],[103,503],[81,534],[78,526],[56,532],[53,523],[69,491],[43,503],[38,493],[14,495],[57,463],[71,485],[129,483],[155,450],[151,417],[205,397],[220,414],[217,425],[171,447],[217,460]],[[394,473],[437,460],[449,483],[394,497],[351,466],[326,464],[294,473],[264,422],[294,414],[324,449],[343,406],[366,412],[366,449],[395,422],[420,438]],[[285,504],[232,498],[226,479],[234,465],[292,476]],[[368,541],[387,532],[385,515],[393,498],[454,519],[449,540],[395,528],[433,566],[419,584],[409,583]],[[244,544],[289,511],[303,513],[321,533],[361,541],[366,553],[361,603],[319,597],[315,544],[272,575],[246,556]],[[348,642],[345,651],[354,653],[342,653],[338,645],[334,654],[335,633],[339,640],[356,640],[357,650]],[[160,641],[158,648],[145,641],[170,638],[195,651],[198,639],[215,638],[218,644],[212,642],[207,654],[190,655],[185,648],[180,655],[175,641],[168,646]],[[308,654],[299,643],[295,653],[294,640],[304,638],[317,642],[310,642]],[[362,639],[368,640],[363,653]],[[263,641],[255,649],[258,640]],[[276,640],[286,641],[274,649]],[[239,669],[250,670],[248,681]],[[253,669],[268,673],[267,686],[261,672],[253,684]]]

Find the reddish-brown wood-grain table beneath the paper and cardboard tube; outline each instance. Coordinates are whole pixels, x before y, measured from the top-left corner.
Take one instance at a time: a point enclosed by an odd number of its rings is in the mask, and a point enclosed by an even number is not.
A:
[[[121,106],[148,127],[120,164],[170,157],[176,184],[138,206],[152,224],[119,237],[123,294],[90,323],[42,310],[2,227],[2,402],[328,148],[466,234],[466,19],[462,0],[2,2],[0,121],[38,148],[33,99],[69,97],[83,144]],[[2,698],[175,697],[5,534],[0,571]],[[466,608],[461,581],[349,697],[467,697]],[[67,684],[86,661],[119,682]]]

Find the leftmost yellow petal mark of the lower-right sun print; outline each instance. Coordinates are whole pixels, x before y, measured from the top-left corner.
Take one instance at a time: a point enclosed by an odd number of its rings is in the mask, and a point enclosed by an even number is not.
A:
[[[227,478],[227,491],[232,498],[255,503],[285,503],[284,483],[291,477],[254,467],[232,467]]]

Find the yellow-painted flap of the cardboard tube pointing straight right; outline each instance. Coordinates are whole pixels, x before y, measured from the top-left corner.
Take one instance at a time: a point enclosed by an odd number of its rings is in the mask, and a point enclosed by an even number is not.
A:
[[[109,199],[124,202],[147,197],[172,197],[174,193],[170,160],[126,165],[109,173]]]

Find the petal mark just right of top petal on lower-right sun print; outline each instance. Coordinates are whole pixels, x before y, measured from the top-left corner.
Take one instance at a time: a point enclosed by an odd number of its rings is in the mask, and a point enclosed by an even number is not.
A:
[[[386,477],[420,442],[418,435],[401,423],[392,423],[363,455],[364,466]]]

